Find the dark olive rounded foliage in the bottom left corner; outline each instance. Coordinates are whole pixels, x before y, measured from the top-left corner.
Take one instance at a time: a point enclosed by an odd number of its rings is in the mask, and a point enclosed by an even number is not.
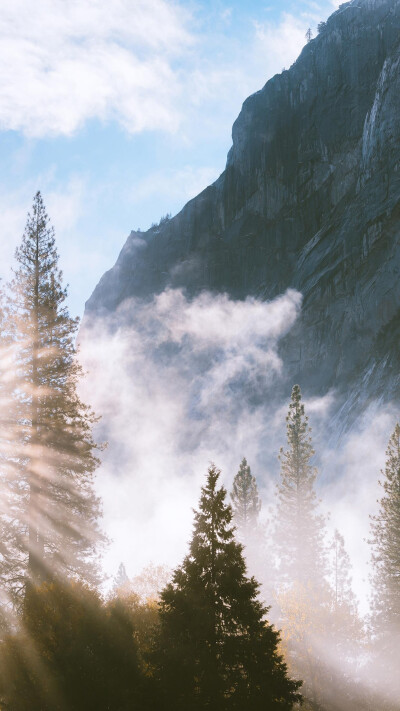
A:
[[[3,642],[0,691],[5,708],[26,711],[146,709],[129,608],[104,605],[83,585],[30,587],[21,630]],[[29,702],[28,702],[29,700]]]

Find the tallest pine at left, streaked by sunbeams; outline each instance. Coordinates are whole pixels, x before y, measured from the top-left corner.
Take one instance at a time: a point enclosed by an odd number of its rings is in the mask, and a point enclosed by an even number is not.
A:
[[[13,589],[54,575],[98,580],[100,502],[95,417],[78,395],[78,320],[69,316],[54,229],[40,192],[28,214],[10,285],[8,332],[16,347]],[[8,519],[3,516],[3,523]]]

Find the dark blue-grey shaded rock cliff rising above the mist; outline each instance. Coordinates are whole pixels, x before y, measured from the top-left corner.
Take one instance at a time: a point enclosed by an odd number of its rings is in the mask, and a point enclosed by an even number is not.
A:
[[[342,5],[245,101],[232,137],[224,173],[173,219],[131,233],[86,313],[167,286],[235,299],[293,287],[304,301],[281,344],[288,381],[335,388],[350,418],[397,397],[400,0]]]

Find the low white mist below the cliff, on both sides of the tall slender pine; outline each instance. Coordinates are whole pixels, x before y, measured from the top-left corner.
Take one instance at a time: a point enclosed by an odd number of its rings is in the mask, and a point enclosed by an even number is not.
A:
[[[84,321],[83,395],[101,415],[98,436],[108,441],[98,491],[112,541],[104,560],[109,575],[121,561],[130,575],[150,561],[180,561],[210,461],[222,469],[230,490],[246,456],[263,499],[262,517],[268,518],[290,387],[278,403],[270,393],[285,381],[279,341],[300,309],[301,294],[294,290],[271,302],[209,293],[188,300],[181,290],[167,290],[150,302],[130,299],[112,316]],[[368,516],[376,509],[395,416],[371,406],[332,450],[324,445],[324,432],[334,400],[329,392],[305,399],[305,407],[322,507],[330,512],[332,530],[338,527],[345,537],[365,610]]]

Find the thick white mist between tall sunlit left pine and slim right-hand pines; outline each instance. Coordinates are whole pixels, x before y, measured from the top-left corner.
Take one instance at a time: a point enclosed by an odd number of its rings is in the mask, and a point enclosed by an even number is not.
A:
[[[209,294],[188,301],[176,290],[125,302],[117,330],[84,328],[84,398],[110,440],[98,475],[110,573],[121,560],[132,572],[150,560],[177,564],[209,461],[229,487],[244,455],[256,461],[266,420],[251,397],[279,378],[277,343],[300,302],[293,291],[267,303]],[[268,488],[265,471],[262,478]]]

